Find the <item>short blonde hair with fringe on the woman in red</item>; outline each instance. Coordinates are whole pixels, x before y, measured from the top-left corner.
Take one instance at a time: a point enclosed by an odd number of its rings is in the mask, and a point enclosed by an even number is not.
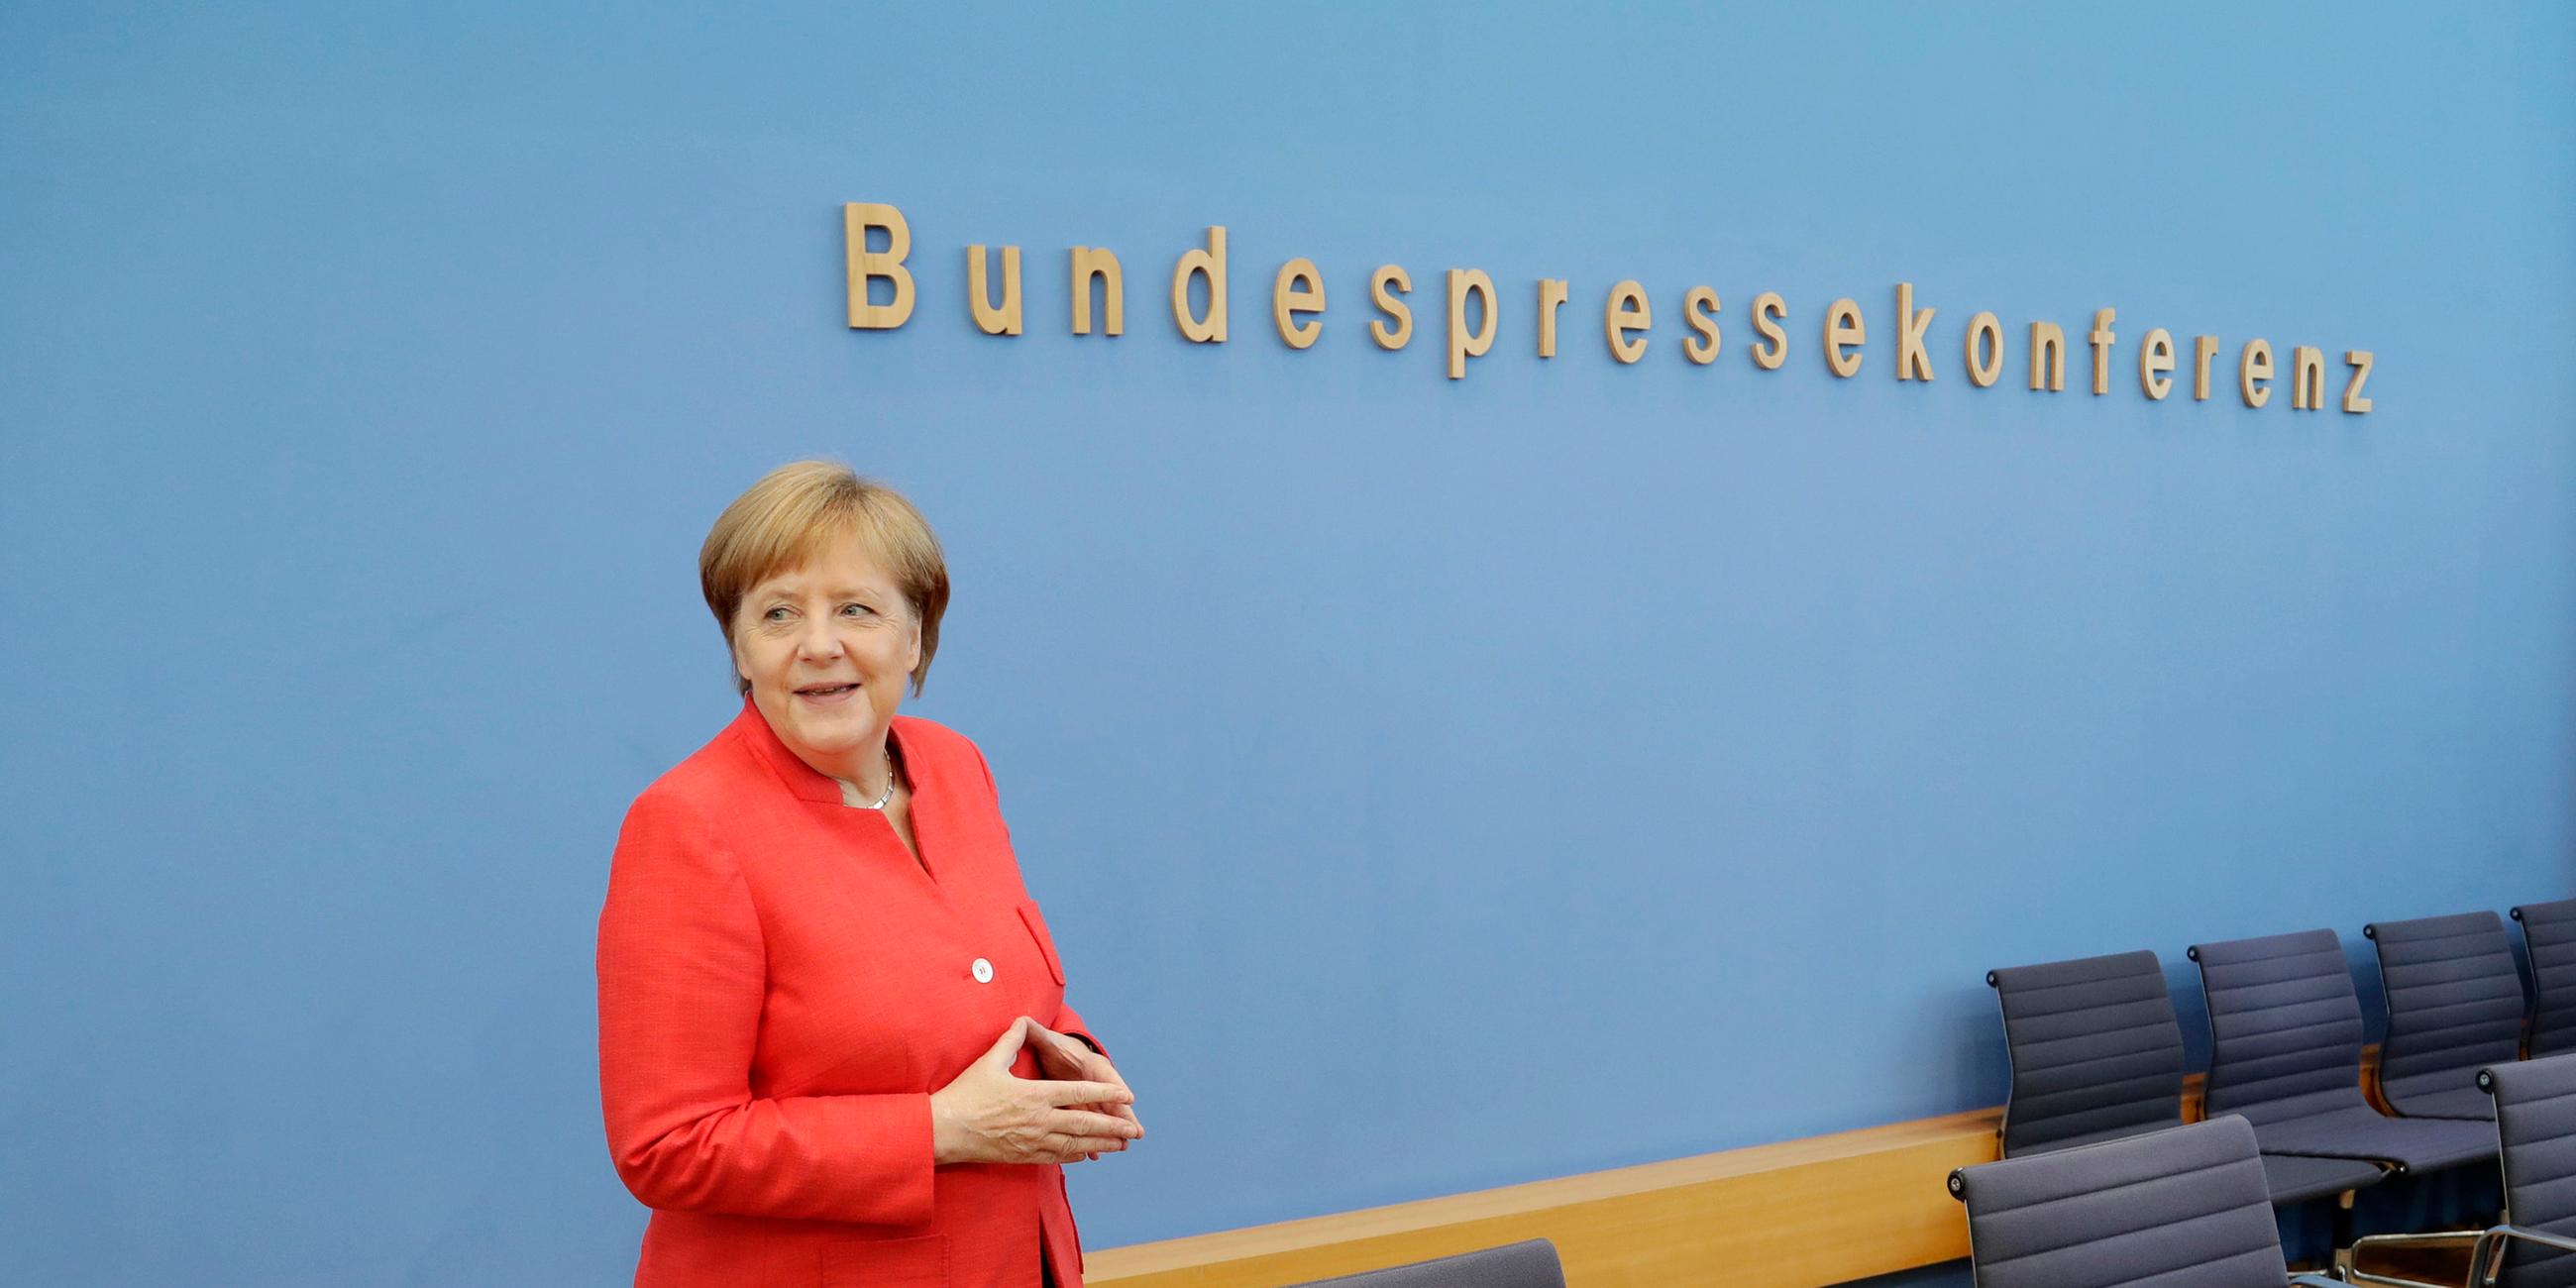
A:
[[[948,559],[930,523],[902,492],[850,474],[837,461],[796,461],[760,477],[716,515],[698,546],[698,587],[706,608],[734,647],[734,611],[755,585],[806,564],[835,536],[855,536],[868,556],[894,574],[896,590],[922,623],[922,665],[912,667],[912,693],[930,677],[940,652],[940,613],[948,611]],[[734,688],[750,693],[739,672]]]

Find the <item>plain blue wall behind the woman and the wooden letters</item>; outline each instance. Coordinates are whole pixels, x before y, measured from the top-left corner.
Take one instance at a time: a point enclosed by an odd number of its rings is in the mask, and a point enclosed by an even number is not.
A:
[[[806,453],[948,541],[914,708],[1154,1128],[1095,1247],[1986,1105],[1986,966],[2576,894],[2571,157],[2561,5],[10,5],[0,1278],[623,1283],[592,917],[734,708],[696,546]],[[2097,307],[2112,394],[2022,389]],[[2372,348],[2378,410],[2151,404],[2146,327]]]

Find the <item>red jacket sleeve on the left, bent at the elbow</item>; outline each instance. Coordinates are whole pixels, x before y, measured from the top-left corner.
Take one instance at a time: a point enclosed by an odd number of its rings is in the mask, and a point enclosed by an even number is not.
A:
[[[752,1095],[768,961],[734,855],[670,793],[626,814],[600,909],[600,1110],[649,1208],[920,1226],[930,1095]]]

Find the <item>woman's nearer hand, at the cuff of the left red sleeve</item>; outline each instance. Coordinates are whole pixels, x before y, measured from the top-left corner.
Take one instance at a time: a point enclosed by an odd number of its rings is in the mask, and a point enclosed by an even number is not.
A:
[[[953,1082],[930,1092],[930,1146],[938,1162],[1079,1162],[1144,1136],[1133,1121],[1072,1105],[1128,1105],[1136,1092],[1110,1082],[1041,1082],[1012,1074],[1036,1025],[1020,1018]]]

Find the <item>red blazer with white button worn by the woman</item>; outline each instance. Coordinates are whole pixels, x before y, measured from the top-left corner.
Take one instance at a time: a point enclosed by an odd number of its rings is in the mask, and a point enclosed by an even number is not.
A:
[[[1082,1283],[1061,1170],[930,1162],[930,1092],[1012,1020],[1087,1030],[984,755],[912,716],[891,737],[920,863],[750,701],[626,811],[600,1108],[652,1208],[636,1288],[1036,1288],[1041,1257]]]

